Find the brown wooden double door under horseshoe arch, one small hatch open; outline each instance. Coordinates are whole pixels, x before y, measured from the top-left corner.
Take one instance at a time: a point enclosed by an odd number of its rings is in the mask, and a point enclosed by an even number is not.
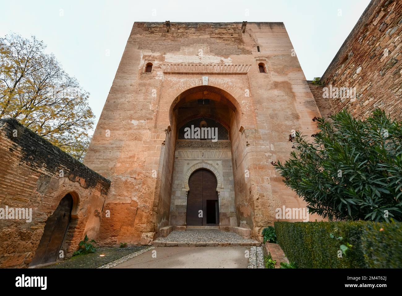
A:
[[[189,178],[187,195],[187,225],[213,226],[219,224],[217,180],[209,170],[196,170]]]

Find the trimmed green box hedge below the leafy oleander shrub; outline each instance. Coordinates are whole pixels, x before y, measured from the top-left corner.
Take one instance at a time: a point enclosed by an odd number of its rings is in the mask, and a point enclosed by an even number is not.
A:
[[[275,222],[275,232],[299,268],[402,268],[400,222]]]

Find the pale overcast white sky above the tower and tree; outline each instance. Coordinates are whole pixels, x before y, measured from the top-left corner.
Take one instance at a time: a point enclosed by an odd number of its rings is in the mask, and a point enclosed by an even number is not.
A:
[[[135,21],[283,22],[311,80],[324,74],[369,2],[0,0],[0,36],[14,32],[43,40],[47,52],[90,92],[97,122]]]

